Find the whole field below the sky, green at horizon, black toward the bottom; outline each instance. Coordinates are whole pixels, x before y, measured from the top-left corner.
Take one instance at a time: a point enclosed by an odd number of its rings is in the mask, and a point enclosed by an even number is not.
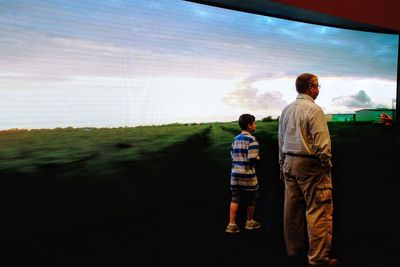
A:
[[[224,235],[236,123],[0,132],[2,266],[119,266],[138,259],[146,266],[244,266],[252,252],[259,253],[256,263],[269,257],[289,266],[277,127],[258,122],[254,134],[263,230],[239,238]],[[400,223],[396,130],[369,123],[329,128],[335,253],[347,266],[363,253],[373,256],[370,262],[390,262]],[[224,255],[231,250],[241,256]],[[15,260],[21,253],[28,260]]]

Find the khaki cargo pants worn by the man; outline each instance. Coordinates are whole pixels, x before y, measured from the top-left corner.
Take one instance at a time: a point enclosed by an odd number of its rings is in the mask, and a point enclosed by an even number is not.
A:
[[[332,178],[316,158],[287,155],[282,167],[285,178],[284,238],[289,256],[304,249],[305,222],[308,262],[329,259],[332,240]]]

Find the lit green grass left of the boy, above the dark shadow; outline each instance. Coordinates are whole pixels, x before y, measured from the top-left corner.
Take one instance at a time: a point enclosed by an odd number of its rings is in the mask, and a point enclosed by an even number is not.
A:
[[[111,174],[115,164],[146,160],[207,127],[197,124],[2,131],[0,172],[32,174],[67,166],[63,175],[79,176],[85,171],[91,175]]]

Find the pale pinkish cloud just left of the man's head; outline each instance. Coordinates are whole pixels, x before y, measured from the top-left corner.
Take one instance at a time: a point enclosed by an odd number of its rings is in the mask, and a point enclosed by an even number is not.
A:
[[[261,80],[261,75],[241,79],[236,82],[236,88],[224,97],[224,102],[232,107],[242,107],[250,110],[282,110],[287,104],[278,90],[260,92],[252,86]]]

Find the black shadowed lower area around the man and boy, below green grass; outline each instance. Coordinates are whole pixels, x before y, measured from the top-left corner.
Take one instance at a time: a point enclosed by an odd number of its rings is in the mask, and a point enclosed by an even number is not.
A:
[[[213,171],[213,160],[201,152],[206,136],[188,140],[154,168],[148,168],[151,162],[146,169],[122,166],[121,179],[72,183],[50,171],[3,176],[0,266],[306,266],[305,259],[285,255],[282,189],[276,179],[260,181],[256,219],[262,228],[224,232],[229,192],[221,177],[226,170]],[[332,252],[343,267],[400,266],[399,176],[368,168],[387,161],[368,162],[357,151],[361,147],[352,154],[336,146],[343,155],[336,166],[347,167],[334,173]],[[200,153],[185,160],[188,149]],[[274,174],[261,167],[260,177],[268,176]],[[137,187],[145,190],[134,197]],[[239,226],[243,220],[240,209]]]

